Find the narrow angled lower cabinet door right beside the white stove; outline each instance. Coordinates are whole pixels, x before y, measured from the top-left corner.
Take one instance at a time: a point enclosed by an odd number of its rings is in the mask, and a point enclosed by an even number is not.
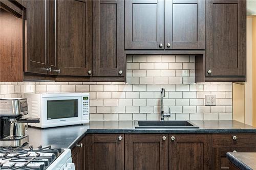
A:
[[[82,138],[75,147],[71,150],[72,162],[77,170],[84,169],[84,159],[86,151],[86,138]]]

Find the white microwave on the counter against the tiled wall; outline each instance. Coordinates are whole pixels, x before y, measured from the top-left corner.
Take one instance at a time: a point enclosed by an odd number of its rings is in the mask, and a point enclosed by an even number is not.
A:
[[[30,126],[49,128],[89,123],[89,93],[24,93],[28,100],[25,118],[40,118]]]

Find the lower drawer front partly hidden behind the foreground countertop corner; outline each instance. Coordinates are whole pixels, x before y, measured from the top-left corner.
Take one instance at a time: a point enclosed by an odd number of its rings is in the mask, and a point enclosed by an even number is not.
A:
[[[229,160],[227,152],[255,152],[255,148],[213,148],[212,149],[212,169],[228,169]]]

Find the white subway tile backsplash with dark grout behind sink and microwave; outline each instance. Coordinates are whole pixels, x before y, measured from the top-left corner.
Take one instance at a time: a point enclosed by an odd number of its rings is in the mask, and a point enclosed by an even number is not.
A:
[[[0,97],[24,92],[89,92],[91,120],[160,119],[160,90],[169,120],[232,119],[232,82],[195,83],[195,56],[127,56],[125,82],[0,83]],[[216,106],[204,106],[206,94]]]

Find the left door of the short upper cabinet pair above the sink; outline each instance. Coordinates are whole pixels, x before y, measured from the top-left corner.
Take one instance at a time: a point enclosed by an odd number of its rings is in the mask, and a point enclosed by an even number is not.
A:
[[[164,49],[164,0],[125,1],[125,49]]]

